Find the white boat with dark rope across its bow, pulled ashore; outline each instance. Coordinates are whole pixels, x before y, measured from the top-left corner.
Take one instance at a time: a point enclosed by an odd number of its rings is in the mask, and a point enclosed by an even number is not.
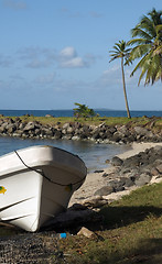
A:
[[[66,210],[87,168],[76,155],[32,146],[0,157],[0,221],[37,231]]]

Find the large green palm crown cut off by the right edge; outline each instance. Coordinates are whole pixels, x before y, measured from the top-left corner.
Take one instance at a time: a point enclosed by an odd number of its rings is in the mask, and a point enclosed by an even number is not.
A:
[[[153,9],[148,15],[131,30],[136,38],[128,43],[134,45],[129,62],[141,58],[131,73],[132,76],[137,69],[141,69],[138,85],[144,76],[144,85],[162,80],[162,11]]]

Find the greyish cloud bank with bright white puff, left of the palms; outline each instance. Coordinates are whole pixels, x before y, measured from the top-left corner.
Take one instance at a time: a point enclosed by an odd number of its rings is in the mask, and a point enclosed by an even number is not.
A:
[[[60,68],[87,68],[90,67],[99,56],[85,54],[78,56],[75,47],[66,46],[61,52],[53,48],[25,47],[18,51],[19,58],[29,68],[47,68],[57,65]]]

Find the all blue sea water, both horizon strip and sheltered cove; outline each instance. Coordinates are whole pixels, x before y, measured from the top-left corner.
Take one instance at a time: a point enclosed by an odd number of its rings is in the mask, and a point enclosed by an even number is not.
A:
[[[100,117],[127,117],[126,111],[98,110],[96,112],[98,112]],[[0,110],[0,113],[6,117],[20,117],[26,113],[35,117],[45,117],[45,114],[52,114],[54,117],[73,117],[73,110]],[[131,116],[162,117],[162,111],[132,111]],[[72,152],[83,158],[88,167],[88,172],[107,167],[108,165],[105,163],[106,160],[110,160],[112,156],[130,150],[130,146],[127,145],[95,144],[69,140],[22,140],[0,136],[0,155],[32,145],[53,145]]]

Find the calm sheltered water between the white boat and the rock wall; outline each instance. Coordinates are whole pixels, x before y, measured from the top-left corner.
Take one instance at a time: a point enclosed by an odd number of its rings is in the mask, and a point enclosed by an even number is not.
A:
[[[130,146],[117,144],[96,144],[71,140],[22,140],[0,136],[0,156],[33,145],[52,145],[76,154],[85,162],[88,172],[107,167],[106,160],[130,150]]]

